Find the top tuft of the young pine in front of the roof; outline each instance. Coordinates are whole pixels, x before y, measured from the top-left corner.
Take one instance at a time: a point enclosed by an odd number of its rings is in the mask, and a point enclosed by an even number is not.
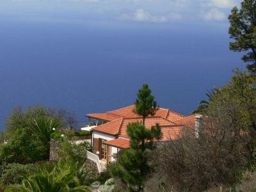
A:
[[[148,88],[148,84],[143,84],[143,87],[139,90],[135,105],[136,108],[134,109],[134,113],[143,116],[143,125],[145,124],[145,118],[148,115],[155,115],[157,102],[151,95],[151,90]]]

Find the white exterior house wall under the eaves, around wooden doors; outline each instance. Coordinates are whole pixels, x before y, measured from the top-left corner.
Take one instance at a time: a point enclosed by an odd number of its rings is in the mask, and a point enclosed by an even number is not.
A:
[[[99,144],[97,144],[97,142],[99,142],[99,138],[103,139],[103,140],[115,140],[115,136],[110,135],[110,134],[105,134],[102,132],[97,132],[97,131],[93,131],[92,132],[92,147],[93,147],[93,153],[96,154],[97,152],[97,148],[99,148]],[[93,143],[95,142],[95,143]],[[110,154],[110,159],[109,161],[115,161],[115,159],[112,157],[113,154],[117,153],[117,148],[116,147],[109,147],[109,154]]]

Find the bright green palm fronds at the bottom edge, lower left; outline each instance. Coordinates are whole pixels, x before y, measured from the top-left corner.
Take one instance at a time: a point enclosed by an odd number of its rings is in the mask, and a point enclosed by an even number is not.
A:
[[[34,174],[24,177],[22,187],[31,192],[90,191],[88,186],[81,184],[77,172],[77,164],[56,164],[51,170],[46,166],[36,166]]]

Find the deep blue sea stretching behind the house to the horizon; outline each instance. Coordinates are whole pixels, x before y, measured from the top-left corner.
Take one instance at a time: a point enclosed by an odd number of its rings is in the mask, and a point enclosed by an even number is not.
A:
[[[228,24],[0,19],[0,130],[15,106],[100,113],[134,103],[148,83],[159,106],[184,115],[227,83],[241,54]],[[81,125],[82,126],[82,125]]]

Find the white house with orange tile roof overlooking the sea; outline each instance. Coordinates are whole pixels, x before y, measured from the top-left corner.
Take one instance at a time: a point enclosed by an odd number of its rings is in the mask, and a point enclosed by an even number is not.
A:
[[[99,156],[100,163],[107,164],[115,161],[115,157],[122,149],[129,148],[127,125],[131,122],[143,121],[142,116],[133,112],[135,105],[108,111],[106,113],[87,114],[92,126],[92,153]],[[156,142],[173,141],[180,138],[184,126],[199,131],[200,116],[184,116],[170,109],[158,108],[154,116],[145,119],[145,127],[150,129],[159,124],[163,137]],[[197,126],[197,127],[196,127]],[[91,155],[93,155],[91,154]]]

